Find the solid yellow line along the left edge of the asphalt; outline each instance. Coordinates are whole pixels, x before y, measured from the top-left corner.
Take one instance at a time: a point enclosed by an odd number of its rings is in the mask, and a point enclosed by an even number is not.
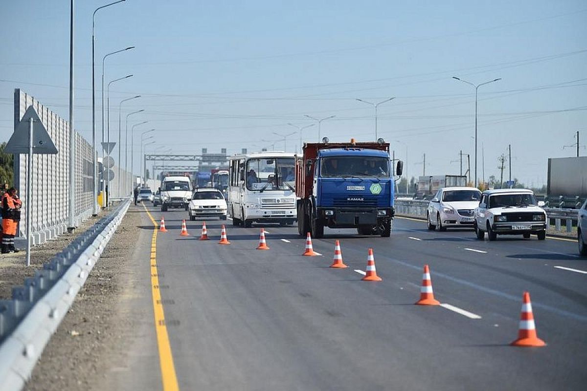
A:
[[[157,230],[158,224],[153,219],[147,207],[143,208],[149,219],[153,223],[153,239],[151,240],[151,292],[153,293],[153,313],[155,315],[155,331],[157,332],[157,346],[159,348],[159,363],[161,366],[161,381],[163,382],[164,391],[179,390],[177,383],[176,367],[173,364],[173,355],[171,355],[171,344],[167,334],[165,324],[165,315],[163,312],[163,301],[161,301],[161,291],[159,289],[159,276],[157,273]]]

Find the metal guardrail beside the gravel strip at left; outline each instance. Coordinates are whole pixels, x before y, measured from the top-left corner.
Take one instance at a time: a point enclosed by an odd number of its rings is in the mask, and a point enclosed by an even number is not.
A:
[[[0,391],[20,390],[31,376],[87,276],[129,209],[124,201],[43,265],[12,300],[0,301]]]

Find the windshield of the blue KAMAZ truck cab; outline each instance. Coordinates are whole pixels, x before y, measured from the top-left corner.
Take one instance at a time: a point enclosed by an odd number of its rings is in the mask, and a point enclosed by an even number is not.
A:
[[[321,176],[340,178],[359,176],[389,178],[389,159],[377,157],[333,156],[322,159]]]

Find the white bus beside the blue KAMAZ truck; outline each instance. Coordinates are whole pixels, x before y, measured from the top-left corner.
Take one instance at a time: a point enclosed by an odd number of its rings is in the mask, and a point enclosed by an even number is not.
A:
[[[286,152],[259,152],[229,158],[228,212],[232,225],[294,224],[294,156]]]

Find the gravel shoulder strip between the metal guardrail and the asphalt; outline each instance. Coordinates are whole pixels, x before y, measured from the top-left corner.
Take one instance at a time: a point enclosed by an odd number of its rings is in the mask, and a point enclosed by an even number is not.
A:
[[[26,390],[97,389],[105,374],[124,361],[133,317],[124,302],[133,297],[137,268],[133,251],[142,207],[131,206],[45,347]]]

